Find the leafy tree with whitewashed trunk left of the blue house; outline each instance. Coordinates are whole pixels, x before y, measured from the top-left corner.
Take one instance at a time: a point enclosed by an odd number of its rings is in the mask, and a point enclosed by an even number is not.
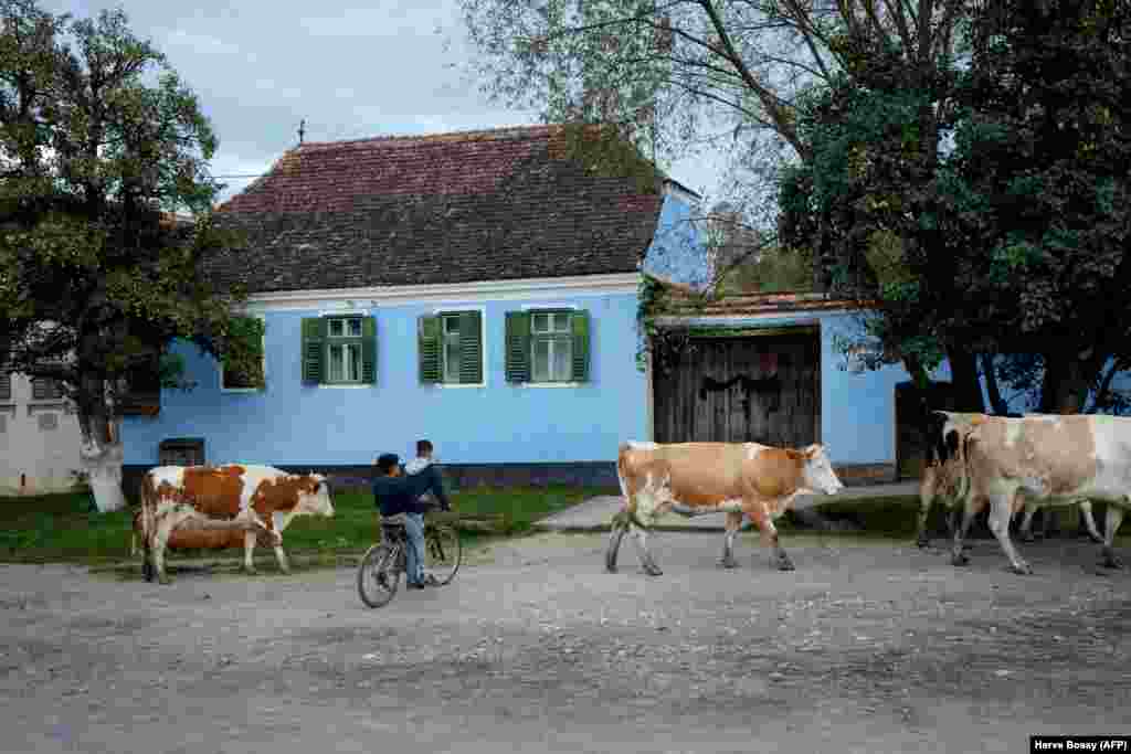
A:
[[[216,137],[123,12],[72,20],[0,0],[0,364],[63,387],[97,506],[115,510],[127,375],[173,338],[251,358],[233,337],[242,293],[214,291],[198,268],[234,242],[209,215]],[[175,363],[161,369],[187,387]]]

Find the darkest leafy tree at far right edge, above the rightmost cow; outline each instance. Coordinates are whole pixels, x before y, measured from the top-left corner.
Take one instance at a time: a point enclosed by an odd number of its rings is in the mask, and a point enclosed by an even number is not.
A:
[[[975,33],[952,168],[981,208],[961,218],[981,251],[964,283],[995,311],[987,340],[1042,357],[1039,409],[1078,413],[1131,356],[1131,8],[1005,0]]]

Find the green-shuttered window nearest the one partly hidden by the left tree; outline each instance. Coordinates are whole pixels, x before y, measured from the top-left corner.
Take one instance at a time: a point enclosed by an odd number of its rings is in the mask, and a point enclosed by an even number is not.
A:
[[[329,314],[302,320],[303,382],[360,385],[377,382],[377,319]]]

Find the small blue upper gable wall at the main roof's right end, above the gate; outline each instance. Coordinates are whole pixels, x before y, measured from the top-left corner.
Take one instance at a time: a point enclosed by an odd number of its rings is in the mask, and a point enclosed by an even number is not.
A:
[[[710,281],[707,236],[694,222],[698,217],[699,209],[683,194],[665,194],[656,236],[645,255],[645,272],[696,287]]]

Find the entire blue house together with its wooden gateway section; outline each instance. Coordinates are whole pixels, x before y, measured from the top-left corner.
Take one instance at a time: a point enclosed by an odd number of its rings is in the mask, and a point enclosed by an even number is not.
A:
[[[247,286],[262,369],[174,344],[197,387],[124,418],[124,471],[368,476],[428,437],[456,484],[615,485],[625,440],[822,442],[847,484],[915,476],[909,375],[841,353],[852,302],[696,295],[698,199],[595,172],[560,127],[291,149],[221,208],[249,243],[206,268]],[[657,296],[664,337],[640,363]]]

